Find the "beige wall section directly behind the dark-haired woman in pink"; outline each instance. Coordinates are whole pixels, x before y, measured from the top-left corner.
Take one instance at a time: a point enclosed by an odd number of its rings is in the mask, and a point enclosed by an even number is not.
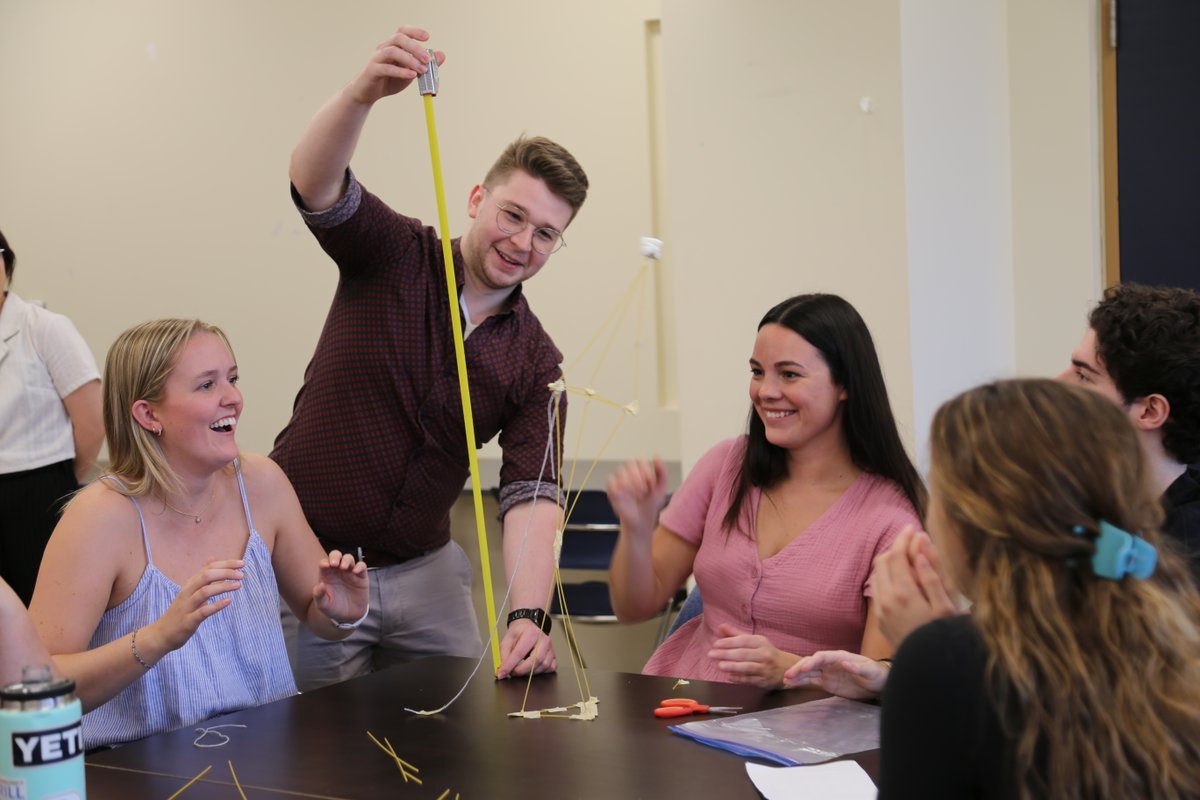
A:
[[[684,464],[744,428],[758,319],[804,291],[859,309],[907,423],[896,4],[664,0],[662,32]]]

